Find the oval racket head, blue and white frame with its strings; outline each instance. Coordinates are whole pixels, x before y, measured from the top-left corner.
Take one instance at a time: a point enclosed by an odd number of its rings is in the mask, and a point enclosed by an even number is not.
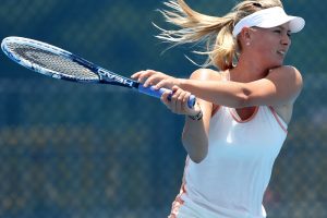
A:
[[[95,64],[46,43],[11,36],[2,40],[1,49],[14,62],[55,78],[100,81]]]

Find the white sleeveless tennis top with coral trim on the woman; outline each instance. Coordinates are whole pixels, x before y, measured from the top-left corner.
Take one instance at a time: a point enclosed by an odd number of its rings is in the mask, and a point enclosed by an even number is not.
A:
[[[186,158],[173,206],[190,202],[213,218],[266,217],[263,196],[286,136],[287,124],[271,107],[257,107],[246,121],[220,107],[210,120],[208,154],[199,164]]]

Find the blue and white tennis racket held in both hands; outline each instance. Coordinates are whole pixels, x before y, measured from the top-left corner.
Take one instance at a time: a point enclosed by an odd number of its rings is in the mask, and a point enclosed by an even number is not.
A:
[[[1,48],[16,63],[53,78],[118,85],[156,98],[160,98],[165,92],[169,90],[167,88],[155,89],[154,86],[144,87],[134,80],[116,74],[69,51],[41,41],[23,37],[7,37],[2,40]],[[187,106],[193,108],[194,104],[195,96],[192,95]]]

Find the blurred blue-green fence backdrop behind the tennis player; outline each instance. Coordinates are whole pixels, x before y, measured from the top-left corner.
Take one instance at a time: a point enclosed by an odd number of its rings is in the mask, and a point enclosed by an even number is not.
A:
[[[43,40],[124,76],[187,77],[203,58],[154,36],[169,27],[155,0],[1,0],[0,37]],[[187,0],[210,15],[235,1]],[[270,218],[327,217],[325,1],[283,1],[306,20],[287,64],[303,74],[289,136],[265,196]],[[0,217],[159,218],[179,192],[183,118],[123,88],[55,81],[0,55]],[[242,181],[240,181],[242,182]]]

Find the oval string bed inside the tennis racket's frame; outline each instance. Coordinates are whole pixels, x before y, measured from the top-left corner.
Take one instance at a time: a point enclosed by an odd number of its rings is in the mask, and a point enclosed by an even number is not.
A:
[[[37,64],[44,69],[59,72],[64,76],[85,81],[99,80],[98,75],[92,70],[68,57],[28,45],[9,44],[8,47],[13,53],[19,56],[19,58],[24,59],[29,63]]]

